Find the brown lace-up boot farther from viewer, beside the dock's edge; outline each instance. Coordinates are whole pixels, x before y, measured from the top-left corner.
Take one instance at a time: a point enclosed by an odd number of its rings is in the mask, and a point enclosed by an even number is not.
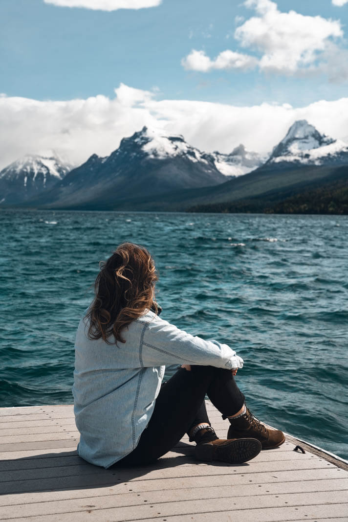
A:
[[[257,438],[262,444],[262,449],[278,448],[285,442],[285,435],[280,430],[269,430],[255,419],[254,415],[246,408],[246,412],[237,419],[229,419],[231,426],[227,438]]]

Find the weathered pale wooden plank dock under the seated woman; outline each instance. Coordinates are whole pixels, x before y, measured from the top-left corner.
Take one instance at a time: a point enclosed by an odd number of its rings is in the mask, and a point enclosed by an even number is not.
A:
[[[212,425],[227,421],[207,402]],[[182,442],[157,464],[105,470],[76,452],[73,407],[0,409],[0,520],[348,520],[348,466],[287,437],[242,465],[197,462]]]

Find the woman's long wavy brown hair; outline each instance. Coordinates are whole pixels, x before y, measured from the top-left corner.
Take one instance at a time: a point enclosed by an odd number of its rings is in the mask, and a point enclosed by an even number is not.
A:
[[[89,339],[125,342],[121,330],[151,309],[157,279],[146,248],[134,243],[119,245],[101,264],[94,283],[95,297],[86,315]],[[112,334],[114,342],[109,339]]]

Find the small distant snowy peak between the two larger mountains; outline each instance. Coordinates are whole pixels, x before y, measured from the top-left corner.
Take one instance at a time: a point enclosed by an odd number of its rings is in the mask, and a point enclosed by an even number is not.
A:
[[[242,176],[251,172],[267,161],[269,155],[246,150],[244,145],[238,145],[230,154],[214,151],[211,156],[215,167],[225,176]]]

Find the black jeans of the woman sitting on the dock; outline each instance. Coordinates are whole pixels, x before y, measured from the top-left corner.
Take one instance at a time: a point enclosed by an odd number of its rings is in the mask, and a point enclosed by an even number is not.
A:
[[[137,447],[116,466],[149,464],[167,453],[197,424],[210,424],[206,394],[224,418],[237,413],[245,400],[231,370],[214,366],[191,366],[190,372],[179,369],[162,385]]]

